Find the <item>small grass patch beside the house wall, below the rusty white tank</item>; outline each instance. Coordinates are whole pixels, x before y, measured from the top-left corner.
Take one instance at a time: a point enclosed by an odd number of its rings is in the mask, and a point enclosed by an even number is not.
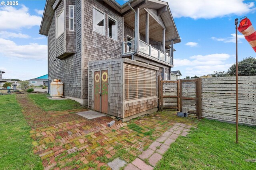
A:
[[[80,103],[71,99],[50,100],[46,97],[48,95],[49,94],[29,94],[28,96],[45,111],[64,111],[86,108],[80,105]]]

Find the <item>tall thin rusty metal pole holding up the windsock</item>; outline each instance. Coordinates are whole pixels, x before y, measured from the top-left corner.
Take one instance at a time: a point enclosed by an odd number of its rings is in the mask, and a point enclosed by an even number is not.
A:
[[[236,143],[238,143],[238,52],[237,52],[238,18],[235,19],[235,25],[236,25]]]

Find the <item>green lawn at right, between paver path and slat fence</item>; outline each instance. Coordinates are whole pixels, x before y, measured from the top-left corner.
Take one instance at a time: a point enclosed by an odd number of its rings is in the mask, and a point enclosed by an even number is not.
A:
[[[245,160],[256,159],[256,127],[239,126],[238,137],[236,144],[236,125],[202,119],[172,143],[155,169],[255,170],[256,162]]]

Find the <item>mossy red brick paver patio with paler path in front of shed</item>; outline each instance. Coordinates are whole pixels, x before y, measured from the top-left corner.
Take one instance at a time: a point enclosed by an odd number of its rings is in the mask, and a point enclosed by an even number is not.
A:
[[[32,127],[34,153],[46,170],[110,170],[108,163],[117,158],[127,163],[126,170],[150,170],[170,144],[179,135],[186,136],[190,128],[184,124],[189,121],[170,112],[127,123],[116,119],[112,127],[107,127],[113,120],[108,116],[89,120],[74,113],[82,109],[46,112],[26,95],[17,96],[17,100]]]

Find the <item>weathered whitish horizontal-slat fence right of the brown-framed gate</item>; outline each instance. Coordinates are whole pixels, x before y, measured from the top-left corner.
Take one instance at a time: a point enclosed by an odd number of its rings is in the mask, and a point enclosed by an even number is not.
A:
[[[202,117],[236,122],[236,77],[201,81]],[[238,77],[238,122],[256,125],[256,76]]]

